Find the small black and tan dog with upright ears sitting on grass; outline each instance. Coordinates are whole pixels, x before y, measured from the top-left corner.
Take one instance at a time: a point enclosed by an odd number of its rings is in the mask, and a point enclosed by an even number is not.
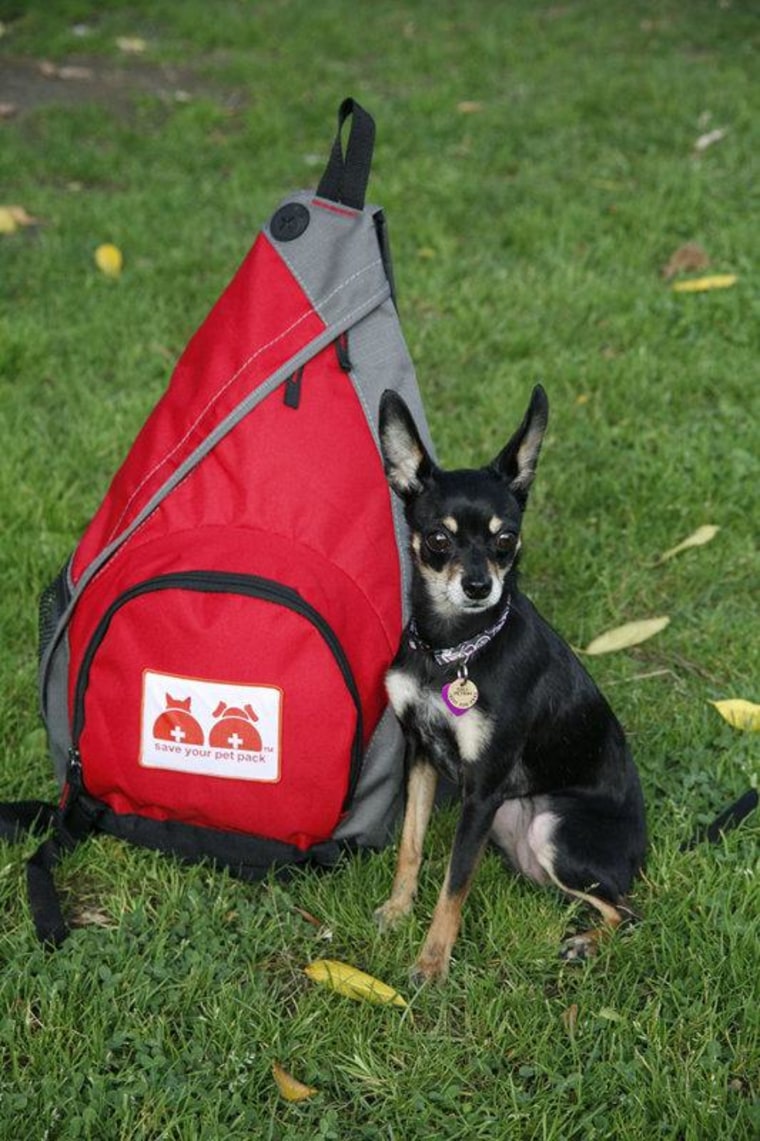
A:
[[[393,891],[375,913],[381,929],[411,911],[439,775],[462,801],[417,981],[446,977],[487,841],[531,880],[600,913],[601,925],[569,940],[565,957],[589,954],[600,932],[621,923],[644,863],[644,801],[620,722],[517,581],[548,412],[537,386],[492,463],[444,471],[403,399],[387,391],[380,406],[386,471],[404,503],[413,565],[413,616],[387,677],[412,761]]]

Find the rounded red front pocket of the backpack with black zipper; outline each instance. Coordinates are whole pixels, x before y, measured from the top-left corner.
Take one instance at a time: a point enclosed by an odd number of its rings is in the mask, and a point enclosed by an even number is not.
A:
[[[333,630],[294,589],[224,572],[157,575],[112,602],[81,659],[72,735],[87,793],[115,812],[301,849],[330,836],[362,763]]]

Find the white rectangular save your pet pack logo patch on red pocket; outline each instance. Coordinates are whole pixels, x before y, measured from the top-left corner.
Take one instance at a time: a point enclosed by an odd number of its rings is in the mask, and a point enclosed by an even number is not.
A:
[[[272,783],[280,779],[281,726],[276,686],[143,673],[145,768]]]

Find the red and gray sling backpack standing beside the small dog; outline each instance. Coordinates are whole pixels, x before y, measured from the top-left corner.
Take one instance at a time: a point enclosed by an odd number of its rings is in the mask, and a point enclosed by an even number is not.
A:
[[[92,831],[245,879],[388,840],[406,569],[378,407],[395,388],[422,408],[364,204],[373,141],[347,99],[316,193],[258,235],[41,599],[62,799],[0,815],[50,831],[29,864],[45,941],[67,933],[55,866]]]

